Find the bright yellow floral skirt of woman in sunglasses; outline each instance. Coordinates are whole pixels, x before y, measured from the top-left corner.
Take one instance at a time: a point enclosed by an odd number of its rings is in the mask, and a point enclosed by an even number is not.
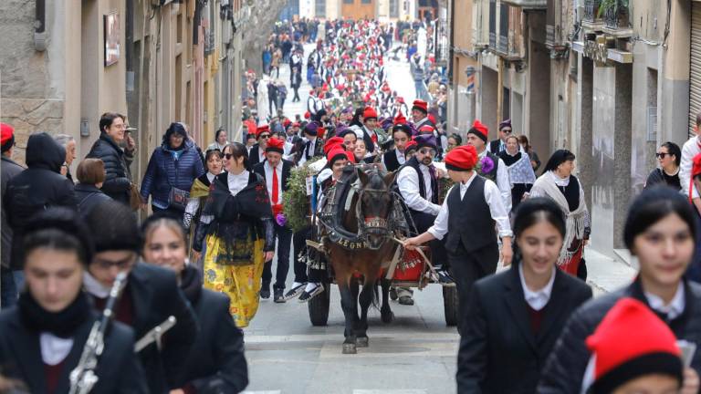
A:
[[[207,235],[206,244],[204,288],[229,296],[229,312],[234,317],[236,327],[247,327],[258,310],[258,292],[265,258],[264,241],[253,243],[253,261],[246,265],[217,264],[220,247],[224,247],[221,239]]]

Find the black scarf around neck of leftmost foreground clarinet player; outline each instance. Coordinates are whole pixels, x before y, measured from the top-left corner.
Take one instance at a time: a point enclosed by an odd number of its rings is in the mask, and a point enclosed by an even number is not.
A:
[[[20,294],[17,306],[27,328],[36,332],[47,331],[62,338],[72,337],[76,329],[91,316],[88,296],[83,292],[78,293],[76,299],[60,312],[48,312],[28,291]]]

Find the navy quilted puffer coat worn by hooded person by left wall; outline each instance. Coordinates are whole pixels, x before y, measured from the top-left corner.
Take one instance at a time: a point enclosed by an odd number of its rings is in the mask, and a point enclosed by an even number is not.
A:
[[[148,201],[151,195],[154,205],[168,208],[171,188],[189,192],[194,180],[202,174],[204,167],[193,141],[185,140],[185,147],[178,160],[175,160],[173,151],[163,144],[153,150],[141,181],[141,197]]]

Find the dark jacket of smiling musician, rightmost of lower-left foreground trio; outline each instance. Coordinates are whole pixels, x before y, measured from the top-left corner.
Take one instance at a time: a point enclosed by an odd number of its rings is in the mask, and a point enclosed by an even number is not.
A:
[[[187,385],[199,394],[243,391],[248,386],[244,336],[229,312],[229,298],[202,289],[193,307],[202,329],[184,369]]]

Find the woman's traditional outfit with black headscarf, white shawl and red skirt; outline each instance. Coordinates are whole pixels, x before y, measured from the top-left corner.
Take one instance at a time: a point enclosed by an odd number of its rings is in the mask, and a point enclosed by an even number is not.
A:
[[[558,266],[570,275],[577,276],[584,240],[589,239],[591,222],[587,204],[584,201],[584,190],[580,181],[574,175],[560,178],[556,173],[558,166],[566,161],[569,150],[556,150],[548,161],[545,173],[533,184],[531,197],[549,197],[560,205],[567,216],[567,233],[560,251]]]

